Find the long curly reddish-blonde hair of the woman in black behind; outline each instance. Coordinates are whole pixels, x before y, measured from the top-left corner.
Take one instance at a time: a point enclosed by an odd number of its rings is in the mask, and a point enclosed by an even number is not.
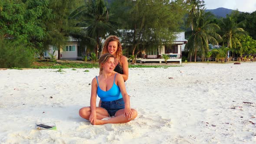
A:
[[[122,46],[119,41],[119,38],[117,36],[108,36],[108,38],[105,40],[105,42],[103,44],[102,55],[105,53],[109,53],[108,52],[108,43],[113,42],[113,41],[117,42],[117,50],[116,50],[115,59],[117,59],[119,61],[120,65],[122,66],[121,57],[123,56],[123,50],[122,50]]]

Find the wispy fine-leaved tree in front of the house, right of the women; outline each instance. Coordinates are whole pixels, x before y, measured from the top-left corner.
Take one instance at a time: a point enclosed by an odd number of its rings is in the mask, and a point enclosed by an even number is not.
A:
[[[183,23],[184,8],[183,0],[115,0],[112,13],[120,23],[122,41],[132,45],[132,63],[145,46],[158,49],[172,42],[173,33]]]

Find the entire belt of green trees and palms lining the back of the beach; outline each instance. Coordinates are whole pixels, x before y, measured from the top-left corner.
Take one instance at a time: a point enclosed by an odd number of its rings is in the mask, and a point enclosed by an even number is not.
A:
[[[209,57],[208,44],[223,58],[231,51],[255,57],[256,11],[234,11],[226,18],[206,13],[203,0],[0,0],[0,67],[30,67],[35,53],[55,45],[58,59],[70,36],[79,41],[84,54],[94,52],[95,61],[108,35],[118,35],[129,45],[132,63],[142,51],[169,45],[173,33],[189,26],[188,59]],[[217,25],[218,24],[218,25]],[[246,36],[246,33],[248,36]],[[185,56],[183,55],[183,59]]]

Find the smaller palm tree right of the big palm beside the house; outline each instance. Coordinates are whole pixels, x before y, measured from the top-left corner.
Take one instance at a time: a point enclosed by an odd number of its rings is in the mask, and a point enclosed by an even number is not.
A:
[[[243,28],[237,27],[237,23],[233,20],[231,16],[228,16],[220,21],[220,28],[222,33],[223,43],[226,43],[227,49],[236,48],[236,45],[241,45],[239,37],[246,35]],[[227,51],[228,52],[228,51]],[[225,62],[227,61],[227,54]]]

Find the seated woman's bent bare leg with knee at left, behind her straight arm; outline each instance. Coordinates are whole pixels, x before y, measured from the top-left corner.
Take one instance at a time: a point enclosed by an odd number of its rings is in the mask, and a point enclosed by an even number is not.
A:
[[[109,118],[108,111],[104,108],[96,107],[97,119]],[[79,110],[79,115],[82,118],[89,120],[91,115],[91,107],[84,107]]]

